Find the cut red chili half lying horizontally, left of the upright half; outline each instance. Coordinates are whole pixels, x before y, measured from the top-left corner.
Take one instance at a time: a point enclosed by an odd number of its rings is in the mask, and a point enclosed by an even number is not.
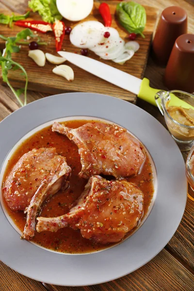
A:
[[[52,25],[49,22],[41,20],[18,20],[15,22],[15,25],[27,27],[42,33],[52,32]]]

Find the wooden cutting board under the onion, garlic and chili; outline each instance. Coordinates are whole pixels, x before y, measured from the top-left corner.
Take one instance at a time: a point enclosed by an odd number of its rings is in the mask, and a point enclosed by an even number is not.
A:
[[[129,41],[128,35],[129,33],[125,31],[123,27],[121,27],[116,21],[115,17],[115,9],[118,1],[106,1],[110,5],[111,13],[113,16],[112,27],[116,28],[120,34],[120,36],[127,42]],[[94,9],[90,16],[88,16],[86,20],[97,20],[103,23],[103,19],[99,14],[98,7],[99,2],[94,3]],[[112,61],[105,61],[100,59],[93,52],[89,52],[89,57],[94,58],[102,63],[111,65],[115,68],[123,70],[133,76],[138,78],[143,78],[144,71],[146,68],[147,56],[150,48],[150,43],[152,40],[152,33],[155,28],[155,23],[157,19],[158,10],[151,6],[145,6],[147,23],[144,34],[146,36],[143,39],[141,36],[137,37],[137,41],[140,44],[140,49],[133,56],[131,60],[126,62],[124,65],[115,64]],[[9,12],[0,9],[0,13],[9,14]],[[31,19],[41,19],[41,17],[36,13],[31,13]],[[29,18],[30,19],[30,18]],[[72,28],[76,25],[75,22],[69,22],[65,20],[66,26],[71,26]],[[13,26],[12,29],[8,28],[6,25],[0,24],[0,34],[4,36],[15,36],[17,32],[21,31],[23,28]],[[53,32],[49,32],[48,34],[38,33],[41,37],[42,41],[46,41],[48,43],[47,46],[41,46],[39,49],[42,49],[44,52],[49,52],[57,55],[55,50],[55,39]],[[5,42],[0,39],[0,49],[3,49]],[[28,57],[28,46],[21,46],[21,50],[19,53],[13,54],[13,59],[24,66],[27,71],[29,85],[28,89],[49,93],[50,95],[64,93],[64,92],[92,92],[92,93],[100,93],[107,94],[114,97],[119,97],[130,102],[136,102],[136,96],[124,89],[121,89],[107,81],[101,80],[98,77],[78,68],[75,65],[71,65],[68,62],[65,65],[70,65],[74,70],[75,79],[72,82],[68,82],[63,77],[57,76],[52,73],[52,69],[55,65],[46,63],[44,67],[38,67],[31,58]],[[65,35],[63,50],[80,53],[80,49],[71,45],[69,41],[69,35]],[[1,74],[0,74],[1,76]],[[9,80],[13,87],[20,88],[24,86],[24,77],[20,74],[18,70],[9,71]],[[1,78],[2,82],[2,78]]]

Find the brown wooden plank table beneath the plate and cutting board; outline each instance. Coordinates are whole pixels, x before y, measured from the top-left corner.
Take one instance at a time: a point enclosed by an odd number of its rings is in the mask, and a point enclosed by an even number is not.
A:
[[[189,32],[194,33],[194,0],[136,0],[153,5],[160,12],[171,5],[179,5],[187,10]],[[26,0],[1,0],[0,8],[23,13]],[[166,89],[162,84],[164,69],[155,65],[151,58],[145,77],[151,80],[155,88]],[[28,92],[28,102],[46,97],[46,94]],[[164,126],[164,120],[156,107],[138,100],[137,106],[158,119]],[[19,107],[9,88],[0,86],[0,120]],[[183,154],[186,158],[187,153]],[[37,262],[38,266],[38,262]],[[89,274],[88,274],[89,275]],[[194,202],[187,201],[186,210],[178,229],[158,256],[139,270],[109,283],[90,287],[49,286],[54,291],[193,291],[194,290]],[[20,275],[0,262],[0,291],[45,291],[46,288],[35,280]],[[51,290],[51,289],[50,289]]]

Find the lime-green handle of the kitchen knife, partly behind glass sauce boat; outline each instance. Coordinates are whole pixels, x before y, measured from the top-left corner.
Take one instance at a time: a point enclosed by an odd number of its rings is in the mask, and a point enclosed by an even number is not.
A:
[[[138,97],[157,106],[156,101],[155,101],[155,95],[157,92],[159,92],[159,89],[154,89],[149,86],[149,80],[144,78],[141,83],[140,91],[138,94]],[[189,103],[179,99],[177,96],[174,94],[170,94],[170,106],[181,106],[184,108],[193,108],[192,105]],[[194,109],[194,108],[193,108]]]

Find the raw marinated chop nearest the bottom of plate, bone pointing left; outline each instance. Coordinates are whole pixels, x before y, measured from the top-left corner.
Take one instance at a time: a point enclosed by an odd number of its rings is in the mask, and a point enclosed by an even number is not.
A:
[[[36,230],[57,231],[69,226],[94,242],[119,242],[143,215],[144,194],[126,180],[89,179],[85,190],[69,213],[59,217],[38,217]]]

